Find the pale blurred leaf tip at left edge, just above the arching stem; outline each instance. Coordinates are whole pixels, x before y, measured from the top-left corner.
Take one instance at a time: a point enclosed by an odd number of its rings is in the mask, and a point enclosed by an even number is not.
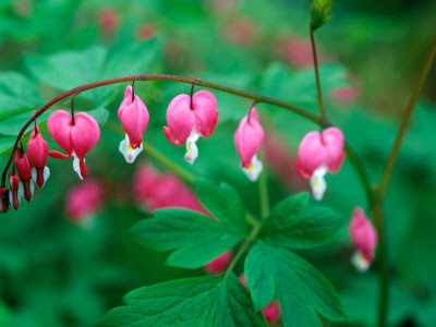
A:
[[[44,104],[36,85],[15,72],[0,73],[0,119],[31,111]]]

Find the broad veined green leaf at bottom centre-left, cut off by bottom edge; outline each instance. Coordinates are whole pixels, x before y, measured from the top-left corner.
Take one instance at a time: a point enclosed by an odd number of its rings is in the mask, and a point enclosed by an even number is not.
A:
[[[129,293],[124,303],[108,312],[99,326],[267,326],[233,274],[225,279],[207,276],[143,287]]]

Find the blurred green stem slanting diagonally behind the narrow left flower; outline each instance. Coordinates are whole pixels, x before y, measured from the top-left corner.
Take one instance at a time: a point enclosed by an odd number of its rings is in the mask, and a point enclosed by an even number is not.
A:
[[[110,129],[111,131],[116,132],[117,134],[120,134],[121,136],[124,136],[124,131],[117,124],[114,124],[111,121],[106,122],[106,126]],[[148,154],[152,158],[154,158],[156,161],[174,172],[179,178],[181,178],[184,182],[187,184],[194,184],[195,182],[195,177],[185,170],[183,167],[168,158],[166,155],[164,155],[161,152],[159,152],[157,148],[154,146],[143,143],[143,149],[146,154]]]

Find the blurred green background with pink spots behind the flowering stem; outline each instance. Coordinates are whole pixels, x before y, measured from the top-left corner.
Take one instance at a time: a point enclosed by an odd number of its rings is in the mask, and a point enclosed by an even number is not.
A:
[[[308,0],[1,1],[1,167],[34,109],[63,90],[126,74],[194,75],[317,112],[310,4]],[[436,32],[436,2],[335,0],[334,14],[316,33],[327,112],[376,182]],[[101,138],[86,161],[93,179],[80,183],[70,160],[49,159],[51,177],[44,189],[31,203],[1,216],[0,326],[93,326],[130,290],[207,274],[166,266],[166,254],[146,250],[129,233],[147,210],[198,204],[186,185],[147,155],[128,165],[118,152],[123,136],[113,124],[120,125],[116,112],[125,86],[76,98],[76,110],[90,111],[101,124]],[[238,121],[251,102],[215,92],[220,122],[210,138],[198,142],[199,157],[190,166],[183,160],[184,148],[169,144],[161,132],[168,104],[189,93],[190,86],[142,82],[135,89],[150,112],[144,141],[195,175],[231,183],[250,210],[258,214],[257,187],[242,173],[233,145]],[[389,326],[436,324],[435,89],[436,66],[386,201]],[[293,161],[299,142],[316,126],[282,109],[257,108],[267,130],[265,166],[275,204],[307,190]],[[38,123],[50,148],[58,148],[47,133],[48,116]],[[358,205],[367,209],[348,160],[327,181],[325,203],[346,219]],[[185,194],[184,202],[180,194]],[[339,291],[349,317],[344,326],[373,326],[377,263],[359,275],[350,265],[352,252],[344,227],[331,243],[302,255]],[[326,322],[326,326],[335,325]]]

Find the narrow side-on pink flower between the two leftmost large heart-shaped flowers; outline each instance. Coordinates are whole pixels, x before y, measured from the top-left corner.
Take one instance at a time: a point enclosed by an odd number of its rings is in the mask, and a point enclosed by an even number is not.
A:
[[[143,134],[148,125],[147,107],[140,99],[131,85],[125,88],[124,99],[118,109],[118,118],[125,132],[125,138],[120,143],[120,153],[125,161],[132,164],[143,150]]]

